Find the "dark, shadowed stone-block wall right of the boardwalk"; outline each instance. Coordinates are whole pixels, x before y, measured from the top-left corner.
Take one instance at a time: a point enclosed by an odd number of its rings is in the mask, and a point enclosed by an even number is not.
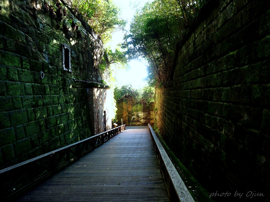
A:
[[[181,41],[170,85],[156,90],[164,140],[210,193],[232,199],[235,191],[269,198],[269,9],[269,1],[210,1]]]

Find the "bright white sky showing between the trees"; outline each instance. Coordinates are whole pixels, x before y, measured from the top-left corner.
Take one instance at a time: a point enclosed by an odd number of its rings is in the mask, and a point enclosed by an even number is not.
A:
[[[126,30],[129,30],[131,20],[134,16],[136,8],[141,8],[149,0],[113,0],[114,4],[120,7],[122,10],[122,18],[127,21]],[[134,8],[134,6],[136,8]],[[124,32],[116,32],[112,36],[112,42],[109,46],[112,50],[117,46],[117,44],[122,43]],[[146,61],[144,61],[145,64]],[[116,83],[118,86],[123,86],[126,84],[131,84],[133,88],[142,88],[146,85],[146,82],[143,81],[147,76],[146,66],[137,60],[132,60],[129,62],[130,68],[127,70],[120,70],[113,73],[113,76],[116,78]]]

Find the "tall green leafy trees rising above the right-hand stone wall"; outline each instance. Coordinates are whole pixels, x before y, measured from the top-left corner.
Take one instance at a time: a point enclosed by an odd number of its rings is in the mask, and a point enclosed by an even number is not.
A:
[[[146,58],[150,85],[170,79],[176,44],[205,1],[154,0],[137,10],[122,48],[130,60]]]

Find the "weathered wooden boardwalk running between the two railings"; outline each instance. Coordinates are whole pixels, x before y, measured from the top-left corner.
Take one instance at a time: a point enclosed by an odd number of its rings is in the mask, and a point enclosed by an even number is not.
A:
[[[169,200],[148,128],[127,126],[16,201]]]

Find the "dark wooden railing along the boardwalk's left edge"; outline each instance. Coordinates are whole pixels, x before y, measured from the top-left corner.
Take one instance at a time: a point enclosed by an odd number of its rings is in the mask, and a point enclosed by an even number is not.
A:
[[[0,170],[0,198],[8,199],[15,196],[39,180],[55,174],[64,166],[81,158],[123,130],[126,130],[126,125]]]

